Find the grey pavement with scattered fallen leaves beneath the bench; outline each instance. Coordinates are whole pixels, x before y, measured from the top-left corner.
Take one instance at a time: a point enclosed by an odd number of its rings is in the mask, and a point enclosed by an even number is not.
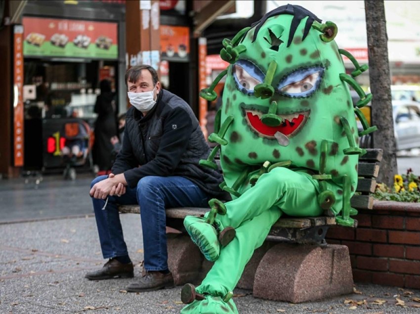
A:
[[[81,178],[61,184],[59,180],[45,179],[38,189],[20,181],[0,181],[0,313],[155,314],[179,313],[182,309],[180,286],[126,293],[126,286],[135,278],[84,279],[87,271],[100,268],[105,262],[86,192],[90,180]],[[62,193],[68,190],[72,192],[67,196]],[[42,197],[37,196],[37,191]],[[59,205],[55,197],[59,198]],[[57,208],[49,208],[55,205],[61,213]],[[39,212],[41,208],[43,213]],[[20,214],[13,214],[15,210]],[[84,213],[89,215],[78,217]],[[12,223],[7,222],[7,217]],[[121,220],[138,277],[138,264],[143,259],[140,216],[124,214]],[[236,289],[234,301],[241,314],[420,313],[420,308],[416,308],[420,306],[420,290],[356,284],[355,291],[323,301],[290,304],[253,298],[252,291]]]

